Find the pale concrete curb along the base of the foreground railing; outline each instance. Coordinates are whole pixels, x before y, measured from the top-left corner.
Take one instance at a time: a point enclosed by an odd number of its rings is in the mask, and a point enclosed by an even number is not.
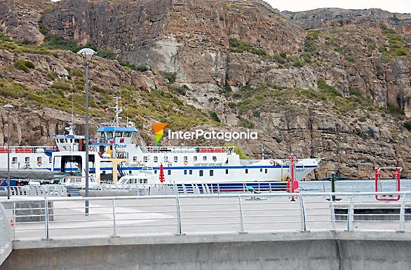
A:
[[[81,239],[50,239],[13,241],[13,249],[70,248],[87,246],[139,246],[184,243],[236,243],[307,240],[354,240],[354,241],[411,241],[410,232],[276,232],[249,234],[182,234],[163,236],[123,236]]]

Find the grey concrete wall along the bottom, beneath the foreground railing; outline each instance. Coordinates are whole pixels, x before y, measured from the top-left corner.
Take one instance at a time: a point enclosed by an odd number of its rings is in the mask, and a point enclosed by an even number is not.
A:
[[[372,234],[376,233],[19,241],[1,269],[411,269],[409,234]]]

